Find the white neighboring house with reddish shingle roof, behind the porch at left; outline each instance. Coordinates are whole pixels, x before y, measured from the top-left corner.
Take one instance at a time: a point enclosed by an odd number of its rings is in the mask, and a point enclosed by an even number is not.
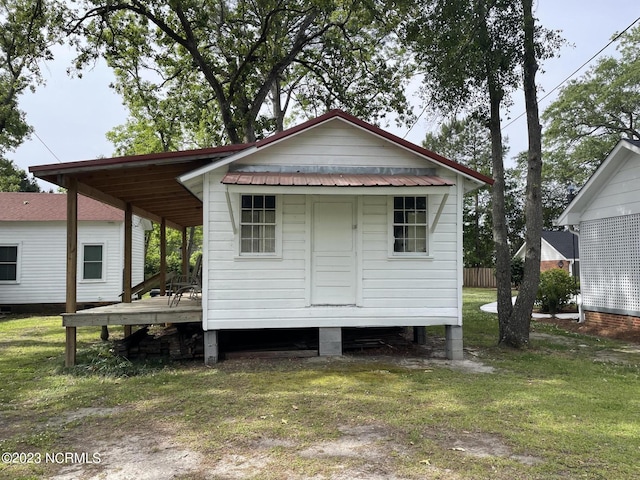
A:
[[[0,193],[0,308],[4,312],[63,311],[66,195]],[[122,300],[124,212],[78,198],[79,304]],[[133,217],[133,283],[144,279],[148,220]]]

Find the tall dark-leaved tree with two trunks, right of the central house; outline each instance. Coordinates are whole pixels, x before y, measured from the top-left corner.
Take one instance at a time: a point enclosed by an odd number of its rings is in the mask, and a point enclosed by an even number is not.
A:
[[[418,9],[420,13],[406,24],[404,38],[426,72],[429,99],[449,111],[467,109],[486,119],[489,127],[499,342],[521,347],[529,339],[542,226],[535,74],[537,62],[553,52],[557,39],[553,32],[536,27],[531,0],[425,0]],[[519,86],[525,93],[529,134],[524,206],[528,249],[525,288],[513,305],[500,113],[507,106],[507,93]]]

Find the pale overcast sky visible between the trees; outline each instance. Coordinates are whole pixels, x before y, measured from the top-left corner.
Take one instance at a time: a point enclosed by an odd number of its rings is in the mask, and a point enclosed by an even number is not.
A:
[[[603,48],[612,35],[627,28],[640,17],[638,0],[539,0],[536,15],[546,28],[562,31],[569,45],[562,49],[557,59],[547,61],[543,72],[538,73],[538,97],[541,98],[560,84],[567,76],[587,62]],[[602,55],[614,55],[616,45],[611,45]],[[66,70],[74,53],[67,47],[56,51],[55,61],[48,63],[44,70],[45,86],[35,93],[26,93],[20,98],[20,108],[27,114],[37,136],[21,145],[7,158],[20,168],[28,170],[31,165],[90,160],[109,157],[113,146],[105,138],[105,133],[124,123],[126,110],[120,98],[109,88],[112,75],[109,69],[98,64],[83,77],[71,78]],[[593,63],[593,62],[592,62]],[[585,67],[577,76],[586,71]],[[540,102],[541,111],[556,97],[557,91]],[[523,94],[514,95],[514,106],[509,118],[524,113]],[[420,103],[416,98],[415,104]],[[416,109],[417,110],[417,109]],[[419,113],[418,111],[416,113]],[[392,133],[420,144],[427,131],[438,128],[440,119],[428,110],[411,131],[407,128],[388,128]],[[504,118],[503,124],[509,123]],[[524,116],[506,127],[504,134],[509,138],[511,154],[526,150],[526,120]],[[55,155],[55,156],[54,156]],[[43,187],[49,188],[49,184]]]

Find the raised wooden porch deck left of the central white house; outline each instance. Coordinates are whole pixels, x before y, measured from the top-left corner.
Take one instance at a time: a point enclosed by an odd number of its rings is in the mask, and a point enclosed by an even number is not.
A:
[[[167,297],[153,297],[62,314],[65,327],[189,322],[202,322],[202,305],[187,296],[176,307],[169,307]]]

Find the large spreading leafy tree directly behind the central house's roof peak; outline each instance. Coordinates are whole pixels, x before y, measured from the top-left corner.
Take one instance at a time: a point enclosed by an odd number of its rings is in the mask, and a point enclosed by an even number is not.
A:
[[[196,131],[208,130],[216,144],[241,143],[282,129],[292,104],[299,114],[344,107],[369,119],[408,112],[411,67],[393,35],[402,16],[385,5],[84,0],[73,31],[81,34],[78,64],[104,55],[125,97],[137,96],[144,78],[147,94],[169,102],[162,111],[189,110],[207,124]]]

